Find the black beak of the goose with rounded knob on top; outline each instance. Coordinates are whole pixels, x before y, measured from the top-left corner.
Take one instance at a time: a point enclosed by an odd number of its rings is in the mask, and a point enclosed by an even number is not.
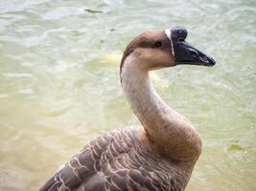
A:
[[[187,30],[182,27],[175,27],[171,30],[175,64],[214,66],[216,62],[212,57],[201,53],[198,49],[185,42],[187,34]]]

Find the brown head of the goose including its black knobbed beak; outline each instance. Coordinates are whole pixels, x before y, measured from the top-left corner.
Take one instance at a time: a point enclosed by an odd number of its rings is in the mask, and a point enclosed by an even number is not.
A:
[[[187,35],[183,27],[141,33],[128,44],[121,61],[121,72],[128,57],[136,59],[137,67],[146,71],[180,64],[215,65],[212,57],[185,41]]]

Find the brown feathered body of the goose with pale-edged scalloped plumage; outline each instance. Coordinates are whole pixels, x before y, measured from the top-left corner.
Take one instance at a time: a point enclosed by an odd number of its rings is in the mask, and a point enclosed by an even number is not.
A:
[[[92,140],[40,191],[183,190],[180,180],[189,175],[152,152],[140,131],[129,127]]]

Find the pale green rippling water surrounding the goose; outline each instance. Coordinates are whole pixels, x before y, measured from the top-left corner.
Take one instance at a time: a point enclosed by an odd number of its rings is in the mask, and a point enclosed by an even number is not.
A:
[[[256,190],[256,2],[0,2],[0,190],[38,189],[89,139],[138,124],[119,59],[140,32],[175,25],[213,68],[152,74],[203,141],[188,191]]]

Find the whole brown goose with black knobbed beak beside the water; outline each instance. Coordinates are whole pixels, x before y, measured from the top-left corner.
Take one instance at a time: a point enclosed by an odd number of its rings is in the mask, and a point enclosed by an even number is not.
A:
[[[91,140],[39,191],[183,191],[201,153],[190,120],[154,91],[152,70],[215,60],[187,43],[187,30],[143,32],[128,44],[120,65],[123,92],[141,122]]]

